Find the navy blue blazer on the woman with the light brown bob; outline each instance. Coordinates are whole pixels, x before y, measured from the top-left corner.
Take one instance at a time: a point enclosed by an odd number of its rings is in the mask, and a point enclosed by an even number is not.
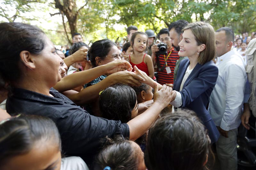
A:
[[[203,65],[197,63],[185,81],[183,89],[180,91],[180,85],[189,64],[188,59],[180,62],[180,68],[174,82],[173,90],[181,93],[182,105],[180,107],[196,112],[206,129],[208,129],[209,137],[212,143],[214,143],[218,140],[220,133],[208,113],[206,105],[216,84],[219,70],[212,61]]]

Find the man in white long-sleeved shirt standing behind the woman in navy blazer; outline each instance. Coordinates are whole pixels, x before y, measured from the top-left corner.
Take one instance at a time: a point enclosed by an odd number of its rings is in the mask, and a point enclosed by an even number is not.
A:
[[[228,27],[218,29],[215,40],[219,75],[210,96],[208,111],[221,134],[216,142],[220,167],[222,170],[236,170],[236,136],[241,123],[247,76],[243,58],[237,53],[236,48],[232,49],[233,30]]]

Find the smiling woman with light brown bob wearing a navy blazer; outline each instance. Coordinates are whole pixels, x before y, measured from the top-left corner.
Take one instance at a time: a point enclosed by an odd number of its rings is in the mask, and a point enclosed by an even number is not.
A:
[[[214,29],[208,23],[195,22],[188,24],[183,31],[179,55],[188,56],[188,59],[180,62],[173,86],[176,97],[171,104],[178,109],[188,108],[196,112],[214,143],[220,133],[206,109],[218,77],[218,68],[212,62],[215,56]],[[140,70],[135,70],[142,74]],[[153,86],[151,80],[145,79],[147,84]],[[158,87],[161,88],[161,85]]]

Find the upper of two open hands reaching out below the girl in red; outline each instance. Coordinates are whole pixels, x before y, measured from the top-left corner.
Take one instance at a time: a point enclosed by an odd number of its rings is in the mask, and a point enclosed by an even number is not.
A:
[[[104,65],[108,74],[112,74],[118,71],[132,71],[132,65],[124,60],[115,60]]]

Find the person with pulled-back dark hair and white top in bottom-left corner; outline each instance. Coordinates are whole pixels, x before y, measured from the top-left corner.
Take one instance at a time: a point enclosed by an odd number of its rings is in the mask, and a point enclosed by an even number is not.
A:
[[[79,157],[61,159],[55,123],[46,117],[20,115],[0,123],[0,169],[89,170]]]

